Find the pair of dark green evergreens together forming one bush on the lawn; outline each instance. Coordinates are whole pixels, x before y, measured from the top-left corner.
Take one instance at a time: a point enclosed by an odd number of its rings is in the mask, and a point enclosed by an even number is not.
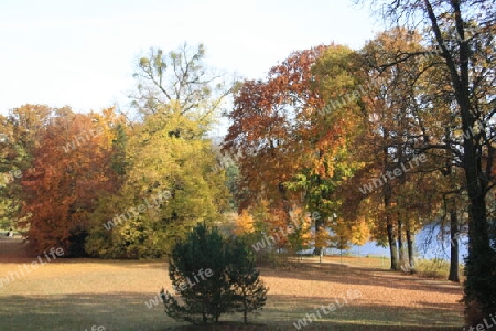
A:
[[[218,322],[235,311],[244,312],[246,322],[267,299],[250,249],[201,224],[173,246],[169,276],[179,298],[162,289],[166,314],[194,324]]]

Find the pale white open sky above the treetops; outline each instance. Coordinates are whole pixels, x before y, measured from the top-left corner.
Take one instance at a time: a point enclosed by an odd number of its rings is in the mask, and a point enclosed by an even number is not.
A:
[[[359,49],[380,30],[352,0],[1,0],[0,114],[24,104],[126,109],[150,47],[204,43],[209,65],[263,78],[292,51]]]

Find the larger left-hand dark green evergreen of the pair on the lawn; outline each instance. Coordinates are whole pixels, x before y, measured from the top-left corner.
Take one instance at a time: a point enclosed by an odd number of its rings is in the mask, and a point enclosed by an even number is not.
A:
[[[194,324],[218,321],[230,308],[230,284],[226,276],[226,243],[217,229],[197,225],[185,241],[172,248],[169,276],[181,303],[162,291],[165,312],[173,319]],[[201,277],[201,270],[213,276]],[[195,278],[196,277],[196,278]]]

